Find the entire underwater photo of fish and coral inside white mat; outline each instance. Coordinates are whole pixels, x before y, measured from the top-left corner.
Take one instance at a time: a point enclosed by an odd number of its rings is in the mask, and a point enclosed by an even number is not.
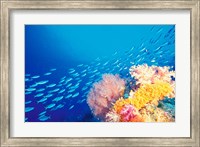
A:
[[[25,25],[25,122],[175,122],[175,25]]]

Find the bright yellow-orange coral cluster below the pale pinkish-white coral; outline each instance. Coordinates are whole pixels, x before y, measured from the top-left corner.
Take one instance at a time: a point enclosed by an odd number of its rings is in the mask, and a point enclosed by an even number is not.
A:
[[[139,110],[147,103],[155,104],[159,100],[164,99],[172,91],[171,85],[167,82],[157,81],[154,84],[145,84],[134,93],[133,98],[120,98],[117,100],[114,104],[114,110],[119,113],[126,104],[131,104]]]

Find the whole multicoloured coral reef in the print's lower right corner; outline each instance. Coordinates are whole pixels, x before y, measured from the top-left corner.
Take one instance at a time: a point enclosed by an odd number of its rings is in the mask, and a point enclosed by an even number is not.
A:
[[[127,83],[105,74],[93,85],[87,99],[93,114],[106,122],[174,122],[175,72],[144,64],[132,66],[130,74]]]

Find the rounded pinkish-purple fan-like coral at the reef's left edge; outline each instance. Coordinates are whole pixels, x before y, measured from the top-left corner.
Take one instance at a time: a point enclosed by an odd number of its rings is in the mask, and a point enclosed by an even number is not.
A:
[[[103,79],[91,88],[87,103],[93,114],[105,120],[106,113],[120,96],[123,95],[125,81],[118,75],[104,74]]]

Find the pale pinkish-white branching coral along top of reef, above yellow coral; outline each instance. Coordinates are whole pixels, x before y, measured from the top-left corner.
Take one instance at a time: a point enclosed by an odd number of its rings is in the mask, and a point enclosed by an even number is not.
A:
[[[132,66],[130,74],[136,79],[136,85],[154,84],[157,81],[167,82],[173,88],[173,91],[169,94],[170,98],[175,97],[175,81],[172,77],[175,77],[174,71],[169,71],[169,67],[157,67],[148,66],[147,64]]]

